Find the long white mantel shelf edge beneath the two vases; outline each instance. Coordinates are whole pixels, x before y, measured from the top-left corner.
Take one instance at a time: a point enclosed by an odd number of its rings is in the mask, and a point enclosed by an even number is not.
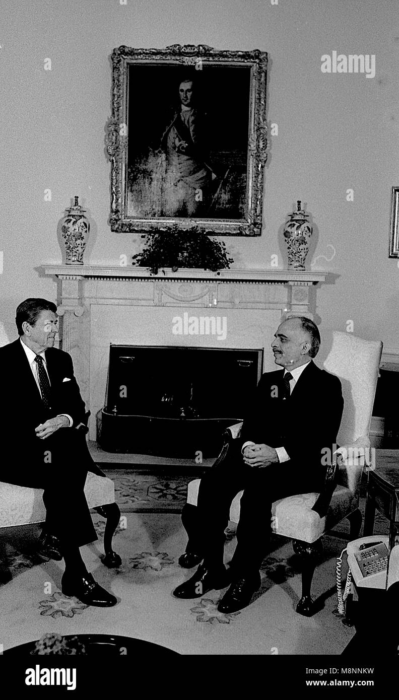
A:
[[[162,280],[179,281],[192,279],[195,281],[214,280],[216,282],[250,282],[250,283],[281,283],[295,286],[311,286],[324,282],[328,272],[314,272],[292,269],[222,269],[211,272],[204,269],[179,268],[173,272],[171,267],[165,267],[158,274],[151,274],[147,267],[122,265],[42,265],[45,275],[54,275],[59,279],[103,279],[103,280]]]

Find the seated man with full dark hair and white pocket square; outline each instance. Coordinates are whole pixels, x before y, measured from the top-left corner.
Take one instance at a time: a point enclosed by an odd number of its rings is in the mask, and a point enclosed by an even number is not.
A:
[[[41,553],[64,558],[63,593],[109,607],[115,596],[87,573],[79,551],[97,540],[83,490],[87,471],[105,475],[75,429],[85,420],[85,403],[71,356],[53,347],[56,311],[48,300],[25,300],[15,318],[20,338],[0,348],[0,430],[7,447],[0,480],[44,489]]]

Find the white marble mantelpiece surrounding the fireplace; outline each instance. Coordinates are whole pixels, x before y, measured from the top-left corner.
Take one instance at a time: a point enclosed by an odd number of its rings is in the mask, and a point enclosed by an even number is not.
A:
[[[264,369],[274,368],[269,343],[282,316],[314,317],[316,285],[328,272],[281,269],[160,269],[105,265],[43,265],[57,280],[62,349],[71,353],[76,378],[95,413],[104,405],[109,345],[190,345],[264,348]],[[173,335],[172,319],[185,311],[225,316],[228,335]]]

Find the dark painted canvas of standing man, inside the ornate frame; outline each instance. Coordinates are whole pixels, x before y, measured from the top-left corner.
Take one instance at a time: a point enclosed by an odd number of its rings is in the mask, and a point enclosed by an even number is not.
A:
[[[250,66],[130,64],[127,217],[242,220]]]

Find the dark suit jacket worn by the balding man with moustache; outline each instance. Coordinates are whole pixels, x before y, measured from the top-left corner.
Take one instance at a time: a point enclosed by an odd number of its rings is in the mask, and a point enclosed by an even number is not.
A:
[[[341,423],[341,382],[311,361],[290,397],[282,397],[283,370],[262,374],[241,428],[241,445],[252,440],[274,448],[284,447],[290,461],[320,467],[325,455],[321,451],[326,447],[332,450]]]

